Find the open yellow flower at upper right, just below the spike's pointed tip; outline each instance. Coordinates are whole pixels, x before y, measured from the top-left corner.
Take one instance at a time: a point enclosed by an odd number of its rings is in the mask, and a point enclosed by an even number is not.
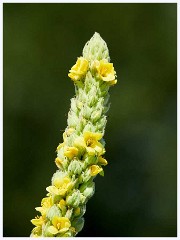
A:
[[[93,67],[97,70],[99,77],[108,82],[110,85],[116,84],[116,72],[114,71],[113,63],[109,63],[107,60],[102,59],[100,61],[94,61]]]

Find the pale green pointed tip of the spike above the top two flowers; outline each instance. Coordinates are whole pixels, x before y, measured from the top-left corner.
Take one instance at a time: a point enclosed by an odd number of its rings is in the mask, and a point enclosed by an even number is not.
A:
[[[89,61],[100,61],[102,59],[110,61],[107,44],[99,33],[95,32],[92,38],[85,44],[83,57]]]

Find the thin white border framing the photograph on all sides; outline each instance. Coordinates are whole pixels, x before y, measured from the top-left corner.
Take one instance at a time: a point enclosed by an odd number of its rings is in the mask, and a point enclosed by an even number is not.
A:
[[[179,85],[179,68],[180,68],[180,62],[178,61],[178,57],[180,55],[180,50],[179,50],[179,39],[180,39],[180,32],[178,31],[178,27],[180,25],[180,17],[179,17],[179,13],[180,13],[180,3],[178,2],[178,0],[124,0],[124,1],[106,1],[106,0],[88,0],[88,1],[84,1],[84,0],[79,0],[79,1],[59,1],[59,0],[53,0],[53,1],[49,1],[49,0],[38,0],[38,1],[13,1],[13,0],[0,0],[0,53],[1,53],[1,58],[0,58],[0,73],[1,73],[1,77],[0,77],[0,90],[1,90],[1,96],[0,96],[0,106],[2,108],[0,108],[0,132],[2,133],[1,138],[0,138],[0,162],[1,162],[1,191],[0,191],[0,214],[1,214],[1,218],[0,218],[0,237],[3,239],[19,239],[20,237],[3,237],[3,3],[177,3],[177,106],[179,106],[180,104],[180,97],[178,97],[178,94],[180,93],[180,85]],[[177,107],[178,109],[178,107]],[[179,109],[178,109],[179,110]],[[178,115],[177,115],[177,124],[179,123],[179,111],[178,111]],[[179,124],[178,124],[179,125]],[[178,136],[180,135],[180,130],[179,128],[177,129],[177,140],[178,140]],[[178,141],[177,141],[178,143]],[[177,145],[177,153],[179,153],[179,144]],[[180,169],[179,169],[179,164],[178,164],[178,159],[179,159],[179,154],[177,155],[177,186],[180,186]],[[178,188],[177,188],[178,190]],[[179,192],[177,191],[177,206],[179,206]],[[179,216],[180,216],[180,210],[179,207],[177,208],[177,237],[116,237],[119,238],[120,240],[129,240],[129,239],[141,239],[141,240],[151,240],[151,239],[166,239],[168,238],[168,240],[171,239],[179,239],[180,237],[180,228],[179,226]],[[23,224],[23,223],[22,223]],[[28,239],[29,237],[21,237],[21,239]],[[96,237],[86,237],[90,240],[94,240],[96,239]],[[113,237],[106,237],[106,239],[111,239]],[[38,238],[38,239],[54,239],[54,238]],[[62,238],[63,239],[63,238]],[[67,239],[67,238],[64,238]],[[71,239],[71,238],[70,238]],[[76,239],[81,239],[80,237],[76,237]],[[98,239],[104,239],[104,237],[99,237]]]

